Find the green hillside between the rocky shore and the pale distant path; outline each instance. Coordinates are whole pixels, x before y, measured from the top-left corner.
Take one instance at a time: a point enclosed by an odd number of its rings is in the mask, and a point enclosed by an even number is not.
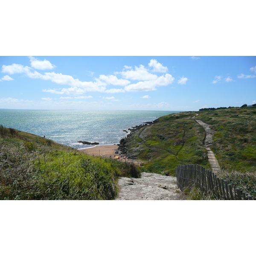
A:
[[[143,171],[175,175],[178,164],[197,163],[209,168],[203,146],[204,128],[189,119],[193,112],[181,112],[158,118],[127,137],[125,151],[144,161]]]

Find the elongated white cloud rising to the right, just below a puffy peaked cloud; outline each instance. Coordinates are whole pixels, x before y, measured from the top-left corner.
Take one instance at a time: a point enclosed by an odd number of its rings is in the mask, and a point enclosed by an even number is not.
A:
[[[129,84],[125,86],[125,90],[128,92],[157,90],[157,86],[166,86],[172,84],[174,80],[175,79],[172,77],[172,75],[166,74],[165,76],[157,77],[155,80],[140,81],[136,84]]]

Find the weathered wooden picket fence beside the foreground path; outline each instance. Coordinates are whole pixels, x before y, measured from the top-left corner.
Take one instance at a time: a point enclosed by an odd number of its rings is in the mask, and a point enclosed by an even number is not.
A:
[[[235,186],[227,184],[227,180],[219,179],[216,174],[198,164],[178,165],[176,169],[177,186],[184,188],[199,187],[203,192],[222,200],[252,200]]]

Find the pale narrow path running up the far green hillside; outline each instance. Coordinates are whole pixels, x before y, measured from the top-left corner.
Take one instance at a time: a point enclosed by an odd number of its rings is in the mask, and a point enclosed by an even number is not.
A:
[[[215,133],[211,129],[211,125],[207,125],[206,123],[202,122],[201,120],[195,120],[198,122],[199,125],[202,125],[204,127],[204,130],[206,132],[206,138],[204,140],[204,147],[207,149],[207,156],[210,163],[210,166],[212,167],[213,172],[220,171],[220,166],[218,164],[218,160],[215,157],[215,154],[211,151],[210,146],[212,145],[212,136]]]

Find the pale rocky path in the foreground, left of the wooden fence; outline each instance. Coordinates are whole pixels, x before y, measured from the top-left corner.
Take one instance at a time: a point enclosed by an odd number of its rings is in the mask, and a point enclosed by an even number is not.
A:
[[[120,178],[118,186],[116,200],[186,200],[173,176],[142,172],[141,178]]]

